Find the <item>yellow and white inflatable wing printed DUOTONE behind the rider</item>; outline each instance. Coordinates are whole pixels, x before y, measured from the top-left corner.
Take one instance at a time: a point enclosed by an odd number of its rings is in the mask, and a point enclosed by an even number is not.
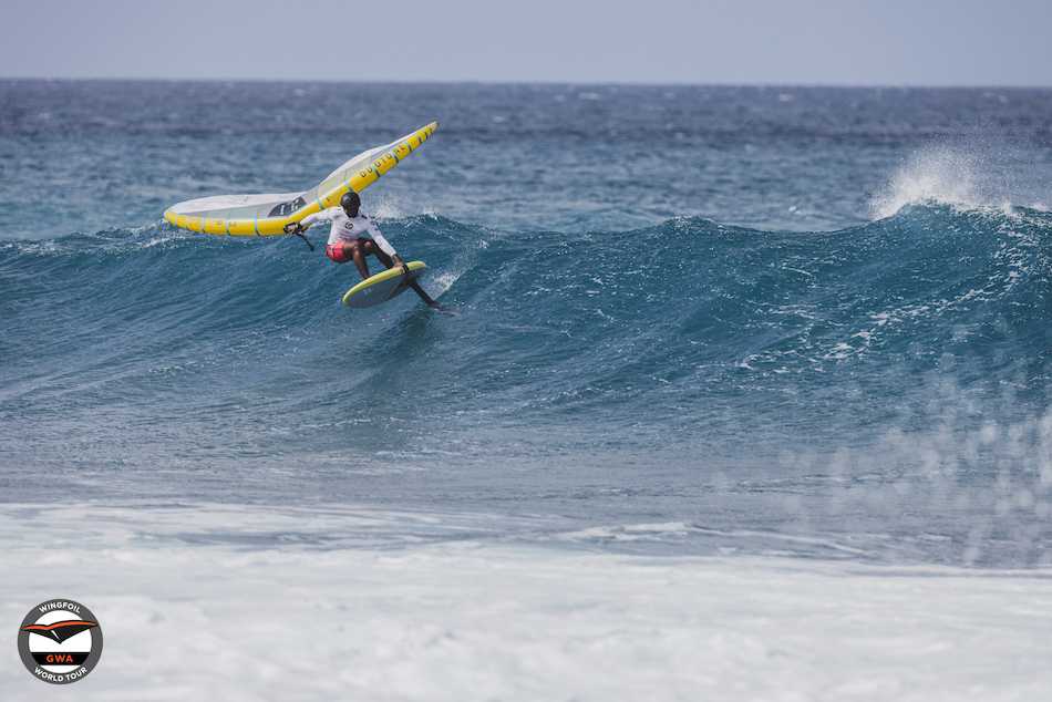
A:
[[[439,128],[437,122],[406,134],[396,142],[362,152],[303,193],[216,195],[173,205],[164,218],[176,227],[205,234],[276,236],[285,226],[307,215],[340,204],[344,193],[365,186],[401,163]]]

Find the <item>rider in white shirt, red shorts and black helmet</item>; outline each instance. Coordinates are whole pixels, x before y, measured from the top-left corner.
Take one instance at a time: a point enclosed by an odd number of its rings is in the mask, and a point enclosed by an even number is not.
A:
[[[375,256],[388,268],[398,266],[403,273],[409,275],[409,267],[362,209],[362,198],[358,193],[353,190],[344,193],[340,198],[339,207],[330,207],[320,213],[307,215],[300,221],[287,225],[285,231],[301,234],[307,227],[319,221],[328,221],[332,225],[329,229],[329,242],[326,246],[329,258],[338,264],[354,261],[363,279],[369,278],[369,265],[365,262],[368,256]],[[362,238],[364,234],[368,234],[370,238]]]

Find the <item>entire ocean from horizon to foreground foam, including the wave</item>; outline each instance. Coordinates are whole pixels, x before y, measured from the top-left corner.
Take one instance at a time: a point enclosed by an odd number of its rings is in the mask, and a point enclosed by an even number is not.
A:
[[[1052,90],[0,81],[2,696],[1048,699],[1050,295]]]

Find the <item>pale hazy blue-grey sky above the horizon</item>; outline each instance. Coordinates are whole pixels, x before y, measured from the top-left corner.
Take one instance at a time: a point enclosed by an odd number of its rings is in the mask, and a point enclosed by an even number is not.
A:
[[[33,0],[0,78],[1052,86],[1052,0]]]

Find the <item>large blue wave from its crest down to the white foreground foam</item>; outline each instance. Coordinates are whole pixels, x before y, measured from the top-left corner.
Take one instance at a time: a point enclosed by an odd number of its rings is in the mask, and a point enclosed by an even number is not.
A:
[[[906,510],[969,561],[1044,558],[1052,215],[381,224],[456,317],[411,293],[349,310],[357,272],[292,237],[161,223],[0,244],[11,498],[61,482],[82,498],[464,504],[682,523],[691,543],[812,518],[898,538]]]

